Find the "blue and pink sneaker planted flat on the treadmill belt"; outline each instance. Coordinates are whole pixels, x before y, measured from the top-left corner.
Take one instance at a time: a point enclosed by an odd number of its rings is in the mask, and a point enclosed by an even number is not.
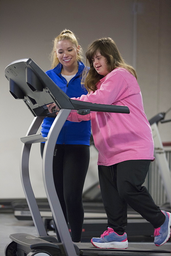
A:
[[[127,235],[124,233],[122,236],[114,232],[113,228],[104,231],[100,238],[93,237],[91,239],[93,246],[97,248],[113,248],[125,249],[128,248]]]

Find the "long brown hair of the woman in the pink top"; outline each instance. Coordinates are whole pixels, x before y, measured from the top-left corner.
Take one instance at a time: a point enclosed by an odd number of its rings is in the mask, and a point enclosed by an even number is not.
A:
[[[127,69],[137,79],[135,69],[124,61],[113,39],[110,37],[100,38],[93,41],[88,46],[88,50],[86,52],[86,66],[90,66],[90,69],[88,70],[88,68],[85,67],[81,83],[84,84],[84,87],[89,93],[90,91],[97,90],[97,82],[104,77],[98,74],[93,67],[92,58],[97,54],[97,52],[100,52],[100,54],[106,58],[109,72],[115,68],[121,67]]]

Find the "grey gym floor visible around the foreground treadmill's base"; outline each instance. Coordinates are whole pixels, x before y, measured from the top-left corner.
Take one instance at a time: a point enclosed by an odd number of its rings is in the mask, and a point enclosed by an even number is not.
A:
[[[14,233],[28,233],[37,236],[36,228],[32,220],[18,220],[13,213],[1,213],[1,229],[0,229],[0,256],[4,256],[4,250],[6,245],[11,241],[10,234]],[[50,232],[50,235],[55,236],[54,232]],[[153,237],[129,237],[129,243],[150,243],[153,244]],[[89,242],[89,241],[82,241]],[[170,245],[170,239],[167,242],[167,246]],[[163,245],[162,247],[164,247]],[[156,247],[154,246],[154,250]],[[163,248],[164,249],[164,248]]]

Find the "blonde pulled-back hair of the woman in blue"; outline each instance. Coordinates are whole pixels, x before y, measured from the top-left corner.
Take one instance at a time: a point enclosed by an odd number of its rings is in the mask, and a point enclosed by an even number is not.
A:
[[[60,42],[62,40],[70,40],[72,42],[72,44],[74,44],[76,46],[76,48],[79,45],[75,34],[69,29],[64,29],[57,37],[55,37],[55,39],[53,41],[54,46],[53,46],[53,50],[51,51],[51,54],[50,54],[50,59],[51,59],[51,63],[52,63],[51,69],[55,68],[59,64],[59,60],[57,58],[55,50],[56,50],[58,42]],[[79,53],[77,54],[77,61],[82,61],[82,59],[83,59],[83,50],[80,47]]]

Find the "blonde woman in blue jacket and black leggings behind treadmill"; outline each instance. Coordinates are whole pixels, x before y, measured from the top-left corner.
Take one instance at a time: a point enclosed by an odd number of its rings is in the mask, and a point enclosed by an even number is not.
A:
[[[85,67],[81,60],[82,49],[76,36],[70,30],[63,30],[54,40],[52,66],[46,74],[70,98],[87,94],[81,87],[81,73]],[[54,118],[45,117],[41,129],[42,136],[47,137],[53,121]],[[82,191],[89,166],[90,135],[90,121],[66,121],[54,150],[55,188],[66,222],[70,224],[73,242],[81,241],[84,219]],[[41,154],[44,145],[41,143]],[[57,229],[56,233],[60,241]]]

